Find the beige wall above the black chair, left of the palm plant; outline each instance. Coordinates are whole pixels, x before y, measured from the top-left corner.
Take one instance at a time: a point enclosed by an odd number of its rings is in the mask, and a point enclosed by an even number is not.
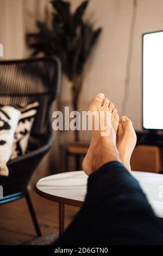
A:
[[[35,31],[35,19],[43,18],[47,2],[48,0],[0,1],[0,43],[4,46],[3,59],[29,56],[24,34]]]

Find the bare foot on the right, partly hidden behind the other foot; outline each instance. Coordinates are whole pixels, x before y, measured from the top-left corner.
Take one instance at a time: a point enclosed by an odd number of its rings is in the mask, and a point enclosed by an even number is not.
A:
[[[131,170],[130,158],[136,145],[136,133],[128,117],[121,117],[117,130],[117,149],[124,166]]]

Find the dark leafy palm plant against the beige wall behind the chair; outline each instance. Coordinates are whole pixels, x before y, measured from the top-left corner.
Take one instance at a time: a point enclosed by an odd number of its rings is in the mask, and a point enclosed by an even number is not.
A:
[[[82,2],[71,12],[71,4],[64,0],[52,0],[52,24],[36,21],[37,33],[27,34],[27,44],[33,50],[32,56],[44,53],[45,56],[57,56],[62,63],[62,72],[67,76],[72,105],[78,110],[79,95],[83,83],[84,66],[102,29],[93,29],[90,22],[83,20],[89,0]],[[78,131],[75,136],[78,141]]]

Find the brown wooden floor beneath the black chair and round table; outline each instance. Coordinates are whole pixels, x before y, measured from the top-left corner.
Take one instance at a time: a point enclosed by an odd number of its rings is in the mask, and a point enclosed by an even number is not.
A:
[[[42,235],[58,231],[58,203],[30,192]],[[35,229],[24,198],[0,206],[0,245],[19,245],[36,237]],[[70,223],[79,208],[65,206],[65,225]]]

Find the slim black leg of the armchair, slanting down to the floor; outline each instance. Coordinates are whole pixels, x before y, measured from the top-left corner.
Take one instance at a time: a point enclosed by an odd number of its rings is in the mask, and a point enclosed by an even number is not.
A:
[[[32,204],[32,200],[30,199],[30,196],[29,196],[28,192],[26,194],[26,201],[27,201],[29,212],[30,212],[30,216],[32,217],[32,221],[33,221],[33,224],[34,224],[34,227],[35,227],[35,230],[36,230],[36,234],[37,234],[37,236],[41,236],[42,234],[41,234],[41,230],[40,230],[40,227],[39,227],[39,223],[37,221],[35,210],[34,210],[33,204]]]

